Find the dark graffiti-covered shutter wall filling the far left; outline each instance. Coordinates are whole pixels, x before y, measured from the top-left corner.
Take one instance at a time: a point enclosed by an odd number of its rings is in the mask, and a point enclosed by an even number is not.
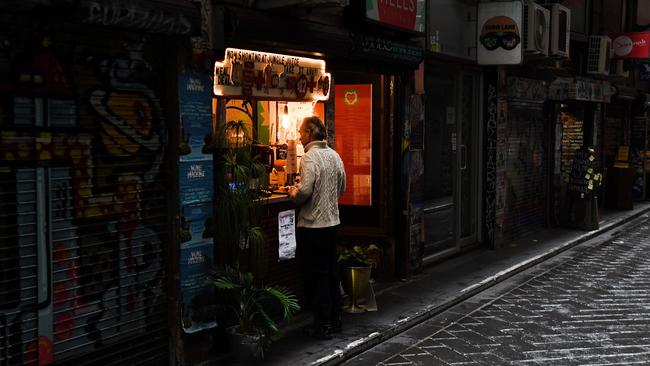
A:
[[[14,282],[0,286],[49,278],[42,296],[0,299],[1,318],[21,331],[33,324],[17,319],[39,303],[32,321],[40,340],[10,341],[12,362],[61,362],[145,335],[149,352],[164,359],[162,44],[153,36],[80,37],[85,29],[62,28],[0,32],[7,80],[0,85],[0,194],[17,197],[3,203],[0,249],[7,258],[20,258],[25,248],[34,256],[32,263],[4,262],[0,278]],[[22,178],[29,174],[42,179]],[[21,201],[42,227],[14,218],[25,216],[17,212]],[[23,244],[31,237],[31,246]]]

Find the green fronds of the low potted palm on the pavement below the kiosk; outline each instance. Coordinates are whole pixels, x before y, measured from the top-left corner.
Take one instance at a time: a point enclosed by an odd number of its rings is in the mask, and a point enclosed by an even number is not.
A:
[[[239,321],[238,332],[259,335],[263,342],[269,342],[270,336],[279,332],[277,323],[269,316],[270,306],[279,306],[284,321],[300,310],[298,299],[289,289],[258,286],[251,272],[226,265],[215,270],[208,282],[230,294],[230,309]]]

